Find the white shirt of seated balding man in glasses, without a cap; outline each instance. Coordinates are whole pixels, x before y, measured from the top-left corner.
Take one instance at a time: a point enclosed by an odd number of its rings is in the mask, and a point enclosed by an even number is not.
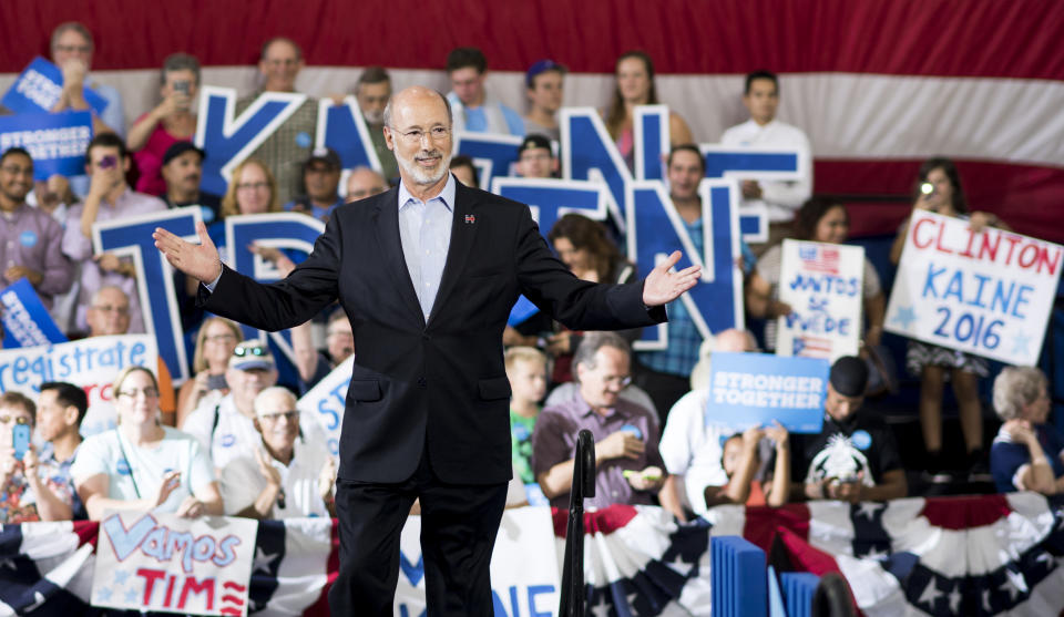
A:
[[[263,448],[262,441],[258,448]],[[265,453],[265,448],[263,451]],[[269,457],[268,453],[265,454]],[[310,446],[296,438],[290,464],[286,466],[280,461],[269,459],[274,469],[280,473],[280,487],[285,492],[285,507],[275,503],[270,518],[329,516],[329,511],[318,493],[318,475],[321,474],[321,467],[328,457],[328,449]],[[222,498],[228,515],[235,515],[254,504],[264,489],[266,479],[258,471],[254,453],[234,457],[222,470]]]

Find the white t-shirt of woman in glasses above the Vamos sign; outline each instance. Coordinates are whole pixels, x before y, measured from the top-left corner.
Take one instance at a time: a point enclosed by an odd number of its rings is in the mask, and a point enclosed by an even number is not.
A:
[[[155,498],[170,471],[181,472],[181,484],[155,512],[176,512],[185,497],[203,494],[214,482],[211,460],[192,435],[163,426],[162,441],[151,448],[133,444],[119,430],[92,435],[78,448],[70,466],[74,483],[98,474],[108,475],[108,497],[112,500]]]

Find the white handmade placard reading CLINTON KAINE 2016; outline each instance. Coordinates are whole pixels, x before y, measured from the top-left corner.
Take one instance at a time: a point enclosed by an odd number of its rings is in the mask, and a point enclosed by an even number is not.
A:
[[[915,210],[884,329],[903,337],[1034,366],[1061,278],[1064,247]]]

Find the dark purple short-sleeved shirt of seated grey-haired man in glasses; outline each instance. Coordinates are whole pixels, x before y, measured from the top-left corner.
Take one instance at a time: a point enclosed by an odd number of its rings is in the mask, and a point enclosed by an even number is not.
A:
[[[544,409],[532,433],[532,469],[535,476],[576,455],[576,435],[587,429],[595,442],[622,429],[637,433],[646,450],[638,459],[603,461],[595,469],[595,497],[585,506],[606,507],[613,504],[649,505],[652,493],[636,491],[624,477],[625,470],[641,471],[651,465],[665,469],[657,450],[657,419],[646,409],[624,399],[606,415],[594,412],[577,392],[569,401]],[[551,500],[554,507],[569,507],[569,494]]]

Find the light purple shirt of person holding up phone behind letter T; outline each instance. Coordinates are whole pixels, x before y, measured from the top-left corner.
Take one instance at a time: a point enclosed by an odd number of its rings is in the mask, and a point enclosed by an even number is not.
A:
[[[80,203],[66,215],[66,230],[63,233],[63,253],[74,263],[81,264],[81,290],[78,296],[78,317],[74,327],[88,330],[85,313],[92,302],[92,296],[102,287],[114,286],[125,291],[130,298],[130,333],[144,331],[144,320],[141,317],[141,302],[136,295],[136,279],[117,272],[104,272],[92,260],[92,240],[81,233],[81,213],[85,204]],[[126,187],[125,193],[115,199],[112,206],[106,199],[100,203],[96,213],[96,223],[115,220],[139,214],[150,214],[166,209],[166,204],[158,197],[135,193]],[[129,257],[123,257],[129,259]]]

